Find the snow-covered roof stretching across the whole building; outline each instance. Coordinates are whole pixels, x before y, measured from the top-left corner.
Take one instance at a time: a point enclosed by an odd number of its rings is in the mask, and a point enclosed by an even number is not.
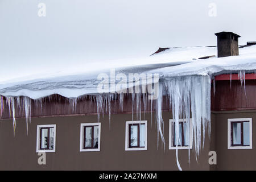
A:
[[[36,68],[33,73],[24,72],[17,77],[8,79],[1,77],[0,95],[28,96],[36,99],[51,94],[64,97],[79,97],[84,94],[97,93],[97,79],[100,73],[110,74],[115,68],[117,73],[159,73],[161,78],[190,75],[216,75],[230,71],[254,71],[256,69],[256,46],[240,48],[239,56],[217,56],[217,47],[173,47],[147,57],[123,60],[94,61],[72,65],[63,63],[60,68]],[[150,55],[150,53],[148,54]],[[35,72],[37,72],[35,74]]]

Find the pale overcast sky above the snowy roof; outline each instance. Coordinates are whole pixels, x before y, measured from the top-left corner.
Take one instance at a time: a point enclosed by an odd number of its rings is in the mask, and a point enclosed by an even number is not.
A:
[[[255,10],[255,0],[0,0],[0,76],[7,67],[17,75],[63,61],[148,56],[158,47],[214,46],[220,31],[246,44],[256,41]]]

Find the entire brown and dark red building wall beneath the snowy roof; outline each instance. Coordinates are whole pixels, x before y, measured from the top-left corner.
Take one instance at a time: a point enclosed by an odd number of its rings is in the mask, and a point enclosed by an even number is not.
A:
[[[193,170],[256,170],[254,160],[256,125],[255,80],[246,80],[246,91],[239,80],[216,81],[216,93],[212,92],[211,137],[205,138],[205,147],[196,162],[191,152],[191,164],[188,164],[188,150],[179,150],[179,160],[183,169]],[[246,95],[245,95],[246,92]],[[58,98],[56,100],[59,100]],[[114,101],[115,102],[115,101]],[[118,102],[118,101],[117,101]],[[40,110],[32,105],[32,122],[28,126],[24,118],[17,118],[15,137],[13,120],[0,122],[0,169],[81,169],[81,170],[177,170],[175,150],[168,150],[169,119],[172,118],[168,102],[163,101],[164,137],[166,150],[157,150],[157,131],[154,113],[151,127],[151,113],[142,113],[142,119],[148,121],[147,151],[125,151],[125,122],[132,120],[131,102],[126,98],[124,113],[118,104],[112,106],[112,119],[109,129],[109,117],[101,115],[101,151],[80,152],[80,123],[97,122],[96,105],[85,100],[78,102],[77,109],[64,101],[46,101]],[[254,110],[252,110],[254,109]],[[18,111],[18,108],[16,109]],[[142,108],[143,110],[143,108]],[[150,109],[146,109],[150,112]],[[75,116],[72,114],[82,114]],[[84,114],[84,115],[83,115]],[[89,114],[89,115],[87,115]],[[17,117],[23,117],[24,113]],[[55,115],[51,117],[50,115]],[[59,116],[58,116],[59,115]],[[66,115],[66,116],[61,116]],[[72,116],[67,116],[72,115]],[[42,117],[39,117],[42,116]],[[5,107],[3,118],[9,118]],[[136,114],[134,114],[136,118]],[[228,150],[228,118],[253,118],[253,149]],[[135,119],[134,119],[135,120]],[[47,153],[47,165],[39,165],[36,153],[36,125],[56,124],[56,152]],[[208,164],[208,152],[217,152],[217,165]]]

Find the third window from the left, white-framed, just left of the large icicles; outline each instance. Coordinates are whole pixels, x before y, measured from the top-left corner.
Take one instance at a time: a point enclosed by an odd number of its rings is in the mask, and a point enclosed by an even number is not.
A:
[[[127,121],[125,150],[147,150],[147,121]]]

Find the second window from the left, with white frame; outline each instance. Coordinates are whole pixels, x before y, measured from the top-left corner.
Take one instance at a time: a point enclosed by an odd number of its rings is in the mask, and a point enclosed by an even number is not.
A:
[[[80,152],[100,151],[101,123],[81,123]]]

